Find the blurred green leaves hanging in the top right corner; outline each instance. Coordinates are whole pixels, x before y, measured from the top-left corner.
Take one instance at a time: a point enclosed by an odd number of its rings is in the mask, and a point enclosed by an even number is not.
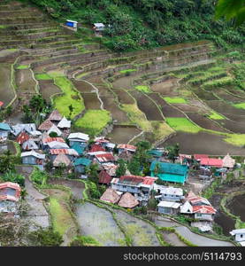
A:
[[[225,17],[226,20],[234,20],[235,26],[240,26],[245,21],[244,0],[218,0],[215,18]]]

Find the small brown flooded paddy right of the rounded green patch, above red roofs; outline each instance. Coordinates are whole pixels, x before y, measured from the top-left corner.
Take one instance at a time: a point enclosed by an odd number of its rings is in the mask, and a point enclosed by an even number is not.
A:
[[[136,127],[114,126],[113,130],[107,137],[110,137],[113,143],[128,143],[134,136],[140,134],[142,131]]]

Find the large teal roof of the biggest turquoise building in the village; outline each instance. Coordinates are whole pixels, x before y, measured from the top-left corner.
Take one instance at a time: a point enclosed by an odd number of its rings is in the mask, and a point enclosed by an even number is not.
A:
[[[181,165],[169,162],[159,162],[157,160],[153,160],[151,162],[149,170],[154,171],[157,164],[159,165],[159,171],[158,171],[159,174],[164,173],[164,174],[185,176],[188,173],[187,165]]]

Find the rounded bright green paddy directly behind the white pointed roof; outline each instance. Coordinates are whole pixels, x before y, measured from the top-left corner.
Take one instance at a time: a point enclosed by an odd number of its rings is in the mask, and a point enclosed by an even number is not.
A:
[[[83,117],[75,122],[75,126],[90,136],[96,136],[111,121],[111,114],[105,110],[88,110]]]

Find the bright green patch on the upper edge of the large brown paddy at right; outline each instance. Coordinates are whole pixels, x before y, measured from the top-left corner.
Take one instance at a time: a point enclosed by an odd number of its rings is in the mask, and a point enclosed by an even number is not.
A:
[[[169,126],[176,131],[198,133],[200,130],[202,130],[185,117],[167,117],[166,121]]]

